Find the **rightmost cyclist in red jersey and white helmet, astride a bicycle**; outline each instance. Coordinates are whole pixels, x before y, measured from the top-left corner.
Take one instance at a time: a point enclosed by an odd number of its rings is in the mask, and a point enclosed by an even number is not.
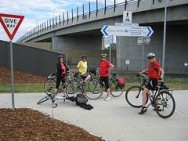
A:
[[[144,114],[147,111],[145,105],[146,105],[147,94],[149,90],[154,91],[158,84],[158,79],[163,79],[164,76],[164,71],[161,68],[159,62],[156,61],[155,54],[149,53],[147,55],[147,58],[149,59],[150,62],[148,67],[139,73],[142,74],[148,72],[148,78],[149,78],[149,81],[142,92],[142,108],[141,111],[139,112],[140,115]]]

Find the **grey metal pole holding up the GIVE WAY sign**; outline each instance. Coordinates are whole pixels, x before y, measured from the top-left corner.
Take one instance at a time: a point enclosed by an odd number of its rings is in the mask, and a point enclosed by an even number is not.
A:
[[[14,71],[13,71],[13,51],[12,51],[12,40],[10,40],[10,67],[11,67],[11,85],[12,85],[12,109],[15,109],[14,104]]]

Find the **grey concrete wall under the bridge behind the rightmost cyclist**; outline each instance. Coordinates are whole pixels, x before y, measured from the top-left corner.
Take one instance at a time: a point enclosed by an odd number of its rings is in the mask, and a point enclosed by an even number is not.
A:
[[[144,46],[144,67],[148,65],[146,55],[153,52],[162,64],[163,26],[152,26],[154,34],[149,45]],[[167,26],[165,71],[169,73],[185,73],[185,62],[188,62],[188,28]],[[126,60],[130,64],[126,65]],[[142,68],[142,46],[137,45],[136,37],[117,38],[117,66],[122,69],[140,71]]]

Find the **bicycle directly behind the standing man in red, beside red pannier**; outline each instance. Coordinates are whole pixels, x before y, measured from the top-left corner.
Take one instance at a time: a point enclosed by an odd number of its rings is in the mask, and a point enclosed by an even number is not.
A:
[[[110,84],[111,95],[113,97],[119,97],[120,95],[122,95],[123,92],[125,91],[125,88],[120,88],[118,86],[117,74],[116,73],[111,73],[111,77],[110,77],[109,81],[110,81],[109,84]],[[102,96],[103,89],[105,87],[104,82],[101,82],[99,79],[96,79],[94,82],[95,83],[89,82],[88,86],[91,89],[92,93],[90,93],[90,95],[87,94],[87,96],[90,97],[90,99],[93,99],[93,100],[98,99],[99,97]]]

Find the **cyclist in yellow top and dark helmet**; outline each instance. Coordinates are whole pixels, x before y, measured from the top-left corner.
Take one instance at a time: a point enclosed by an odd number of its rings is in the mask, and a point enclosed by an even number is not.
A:
[[[87,72],[87,61],[86,56],[83,55],[82,60],[78,62],[77,70],[81,74],[82,78],[84,79],[84,82],[89,80],[91,78],[90,74]]]

